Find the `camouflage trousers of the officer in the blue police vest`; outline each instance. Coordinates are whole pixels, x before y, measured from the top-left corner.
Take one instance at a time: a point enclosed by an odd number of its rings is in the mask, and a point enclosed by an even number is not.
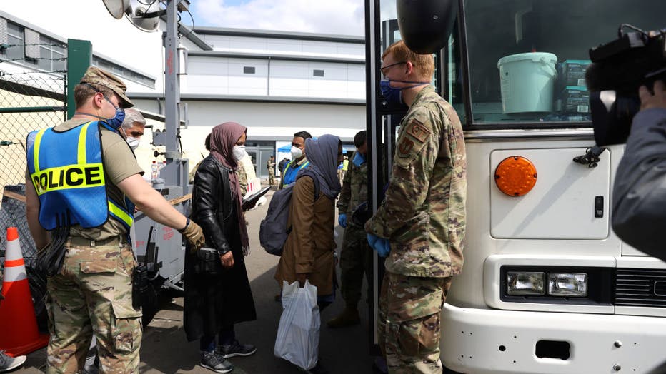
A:
[[[66,243],[60,273],[48,279],[46,306],[51,339],[46,373],[79,373],[94,333],[100,373],[139,373],[141,310],[131,305],[136,263],[128,244]]]

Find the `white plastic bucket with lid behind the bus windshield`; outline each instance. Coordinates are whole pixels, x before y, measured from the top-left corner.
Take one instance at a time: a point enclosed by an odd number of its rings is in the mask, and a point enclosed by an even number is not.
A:
[[[547,52],[512,54],[497,61],[504,113],[552,111],[557,56]]]

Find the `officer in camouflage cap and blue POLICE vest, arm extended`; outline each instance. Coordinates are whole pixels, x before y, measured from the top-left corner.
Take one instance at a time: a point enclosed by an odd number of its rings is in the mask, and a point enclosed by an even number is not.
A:
[[[204,243],[202,229],[144,181],[119,135],[123,108],[133,105],[125,91],[91,67],[74,88],[74,117],[27,139],[28,225],[48,276],[46,373],[80,372],[93,334],[101,373],[138,373],[141,310],[132,306],[127,235],[134,204],[194,248]]]

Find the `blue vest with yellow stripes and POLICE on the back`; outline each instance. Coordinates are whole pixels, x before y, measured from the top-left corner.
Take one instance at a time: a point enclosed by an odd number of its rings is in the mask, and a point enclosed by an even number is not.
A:
[[[28,171],[39,196],[39,223],[46,230],[62,226],[59,219],[69,213],[70,225],[94,228],[115,218],[129,231],[133,209],[106,195],[101,126],[109,128],[94,121],[63,132],[45,128],[28,134]]]

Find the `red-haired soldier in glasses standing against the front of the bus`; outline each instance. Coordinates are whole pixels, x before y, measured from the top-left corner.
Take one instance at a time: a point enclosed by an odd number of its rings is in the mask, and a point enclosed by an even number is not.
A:
[[[452,106],[429,85],[432,55],[398,41],[382,56],[382,93],[409,106],[386,197],[365,228],[385,261],[377,318],[389,373],[442,373],[439,315],[462,270],[467,190],[464,136]]]

